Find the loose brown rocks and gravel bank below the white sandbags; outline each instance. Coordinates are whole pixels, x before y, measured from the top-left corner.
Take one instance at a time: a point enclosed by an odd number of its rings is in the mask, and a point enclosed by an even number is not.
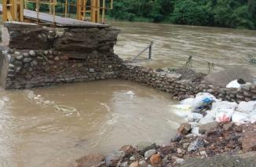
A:
[[[211,122],[199,127],[200,136],[191,130],[184,123],[167,146],[126,145],[105,157],[90,154],[79,158],[71,166],[256,166],[256,123]]]

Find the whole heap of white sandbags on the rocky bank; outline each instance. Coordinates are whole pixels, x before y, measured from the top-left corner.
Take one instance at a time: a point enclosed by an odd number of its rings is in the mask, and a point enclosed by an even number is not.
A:
[[[256,101],[240,103],[222,101],[210,93],[198,93],[195,98],[182,100],[172,106],[174,112],[187,119],[198,134],[199,126],[210,122],[256,122]]]

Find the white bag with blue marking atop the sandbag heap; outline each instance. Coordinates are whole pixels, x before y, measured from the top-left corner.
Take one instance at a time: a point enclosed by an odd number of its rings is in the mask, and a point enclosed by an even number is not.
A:
[[[192,104],[192,112],[200,113],[214,101],[216,101],[216,98],[212,94],[198,93]]]

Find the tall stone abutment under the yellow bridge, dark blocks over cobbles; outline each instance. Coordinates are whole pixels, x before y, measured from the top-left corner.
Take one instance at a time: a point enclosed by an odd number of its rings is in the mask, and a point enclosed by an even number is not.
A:
[[[117,78],[123,60],[113,51],[119,30],[112,27],[57,29],[7,23],[10,34],[5,89]],[[1,58],[2,60],[2,58]],[[3,67],[2,67],[3,68]]]

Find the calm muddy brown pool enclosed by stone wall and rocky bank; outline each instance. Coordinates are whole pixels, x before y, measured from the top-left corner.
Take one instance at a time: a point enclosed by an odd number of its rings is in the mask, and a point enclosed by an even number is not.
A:
[[[119,80],[0,96],[0,166],[68,166],[124,144],[164,144],[182,121],[167,93]]]

